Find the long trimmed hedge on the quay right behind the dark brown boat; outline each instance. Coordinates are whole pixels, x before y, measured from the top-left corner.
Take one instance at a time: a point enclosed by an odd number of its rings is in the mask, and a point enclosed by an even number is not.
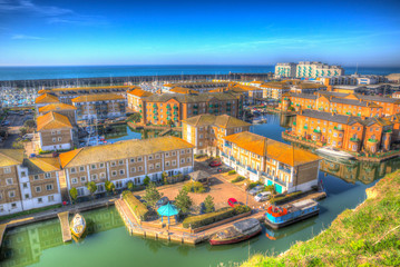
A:
[[[214,224],[216,221],[233,217],[235,215],[236,212],[233,208],[225,207],[214,212],[187,217],[183,221],[183,227],[189,228],[192,226],[192,228],[194,229],[202,226]]]

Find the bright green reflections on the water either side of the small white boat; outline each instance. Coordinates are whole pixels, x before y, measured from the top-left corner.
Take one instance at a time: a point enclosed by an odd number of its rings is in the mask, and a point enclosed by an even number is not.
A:
[[[124,225],[114,207],[84,212],[84,216],[88,221],[89,235]],[[58,219],[9,229],[0,250],[0,266],[27,266],[39,263],[43,250],[61,245],[64,241]]]

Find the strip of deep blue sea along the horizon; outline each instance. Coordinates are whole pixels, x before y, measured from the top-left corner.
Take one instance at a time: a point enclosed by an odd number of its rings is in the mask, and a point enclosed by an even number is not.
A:
[[[347,75],[400,73],[400,67],[343,67]],[[0,67],[0,80],[78,79],[94,77],[134,77],[166,75],[228,75],[273,72],[274,66],[234,65],[146,65],[146,66],[65,66]]]

